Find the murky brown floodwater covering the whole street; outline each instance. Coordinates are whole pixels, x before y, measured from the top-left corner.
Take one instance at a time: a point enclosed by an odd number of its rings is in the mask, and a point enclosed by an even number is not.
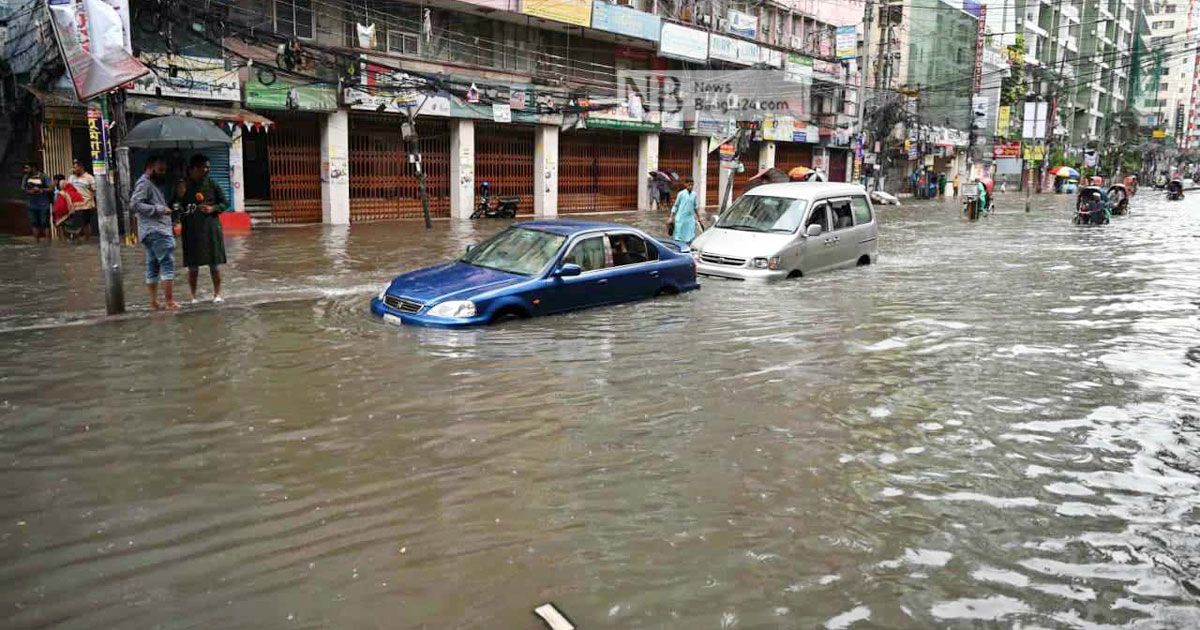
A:
[[[115,319],[6,241],[0,626],[1196,628],[1200,194],[1000,202],[468,331],[367,299],[499,223],[258,230],[228,304]]]

